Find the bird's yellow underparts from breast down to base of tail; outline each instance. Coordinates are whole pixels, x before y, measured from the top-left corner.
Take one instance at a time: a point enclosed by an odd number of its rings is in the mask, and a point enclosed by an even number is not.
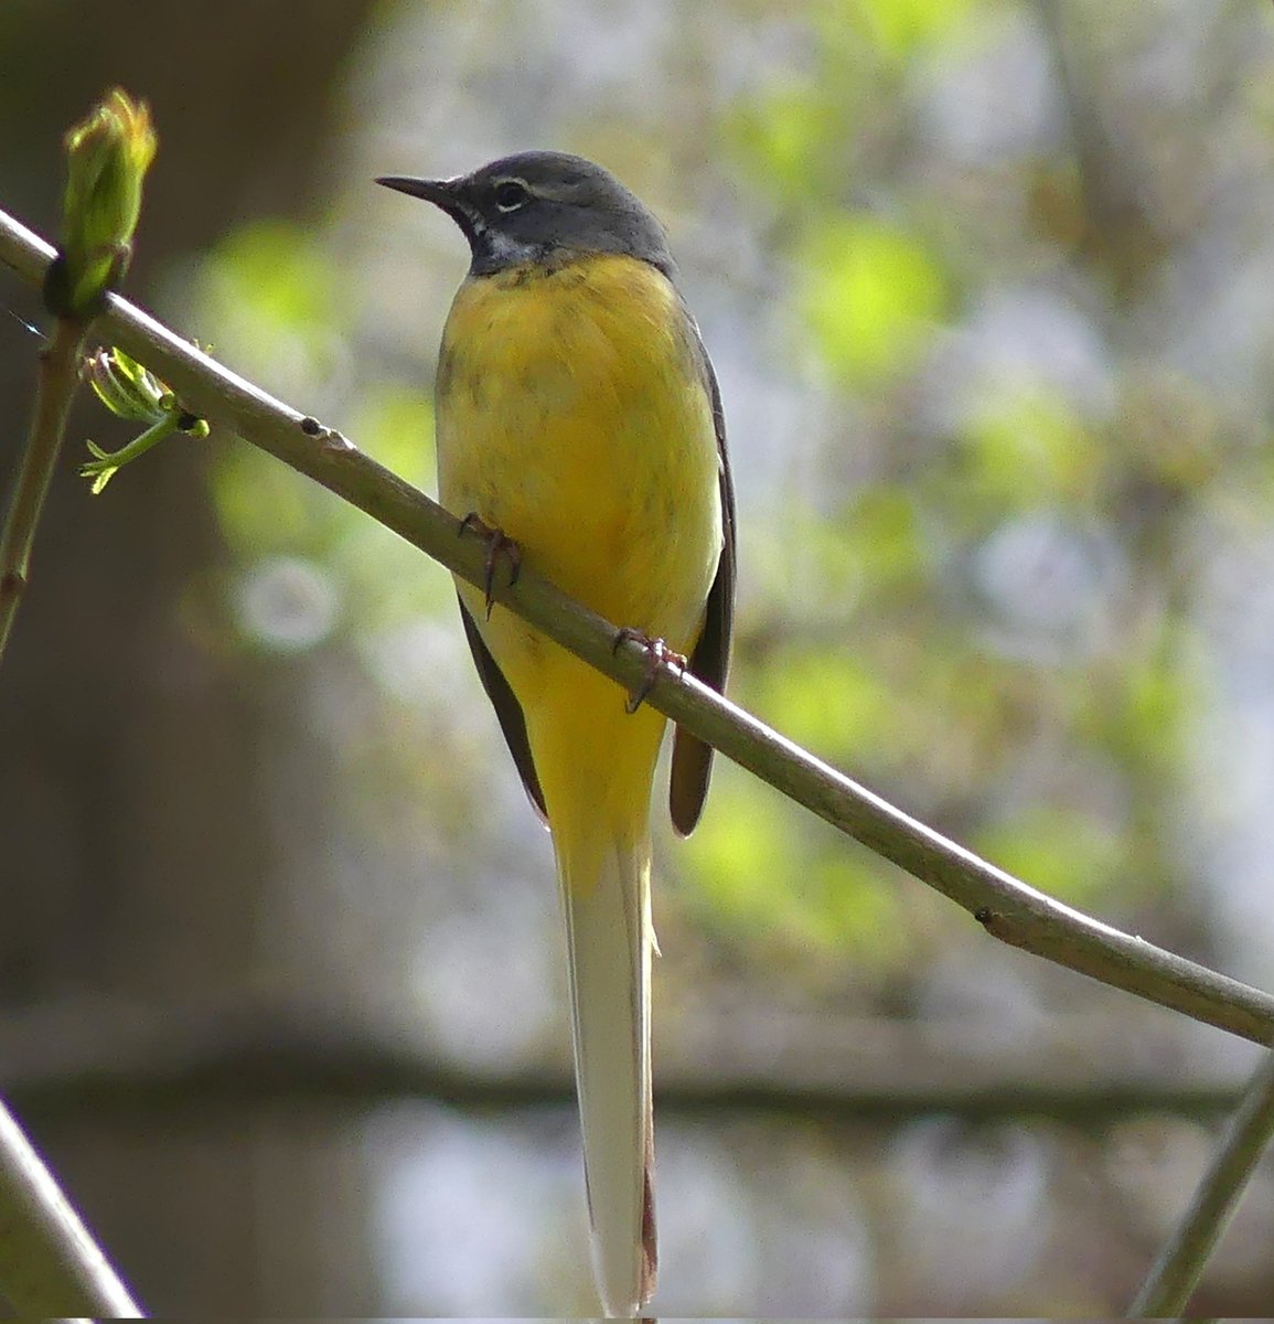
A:
[[[711,405],[689,316],[649,263],[587,256],[467,279],[438,361],[438,485],[616,625],[690,653],[722,547]],[[563,880],[645,837],[663,718],[461,585],[527,718]],[[603,824],[607,828],[603,828]],[[608,830],[607,830],[608,829]],[[571,835],[575,835],[573,833]],[[600,850],[601,846],[599,845]]]

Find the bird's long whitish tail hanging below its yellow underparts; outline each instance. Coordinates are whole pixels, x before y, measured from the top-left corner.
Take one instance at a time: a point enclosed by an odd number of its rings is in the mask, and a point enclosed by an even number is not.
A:
[[[650,843],[642,830],[584,858],[569,842],[556,845],[593,1267],[607,1313],[632,1316],[656,1274]]]

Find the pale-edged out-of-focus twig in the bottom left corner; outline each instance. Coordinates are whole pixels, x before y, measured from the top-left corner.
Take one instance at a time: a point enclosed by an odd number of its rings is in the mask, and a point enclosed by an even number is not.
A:
[[[140,1319],[75,1210],[0,1103],[0,1284],[23,1319]]]

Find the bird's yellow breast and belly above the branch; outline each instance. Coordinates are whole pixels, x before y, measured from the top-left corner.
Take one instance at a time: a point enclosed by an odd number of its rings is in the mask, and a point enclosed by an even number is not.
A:
[[[722,544],[718,454],[694,331],[660,271],[601,256],[466,281],[437,417],[453,514],[502,528],[609,620],[693,642]]]

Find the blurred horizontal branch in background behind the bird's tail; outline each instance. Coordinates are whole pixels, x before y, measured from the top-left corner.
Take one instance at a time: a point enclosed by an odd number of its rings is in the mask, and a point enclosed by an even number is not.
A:
[[[656,1043],[661,1112],[882,1125],[935,1112],[968,1121],[1033,1116],[1101,1132],[1147,1111],[1214,1116],[1241,1087],[1232,1062],[1183,1079],[1200,1031],[1150,1012],[1131,1023],[1057,1017],[992,1041],[993,1051],[985,1027],[965,1018],[808,1021],[744,1012],[723,1033],[716,1013],[690,1018],[675,1045]],[[465,1061],[432,1042],[418,1019],[277,994],[168,1008],[83,1000],[12,1014],[0,1026],[0,1079],[42,1116],[401,1096],[464,1108],[573,1100],[565,1045],[534,1063]]]

